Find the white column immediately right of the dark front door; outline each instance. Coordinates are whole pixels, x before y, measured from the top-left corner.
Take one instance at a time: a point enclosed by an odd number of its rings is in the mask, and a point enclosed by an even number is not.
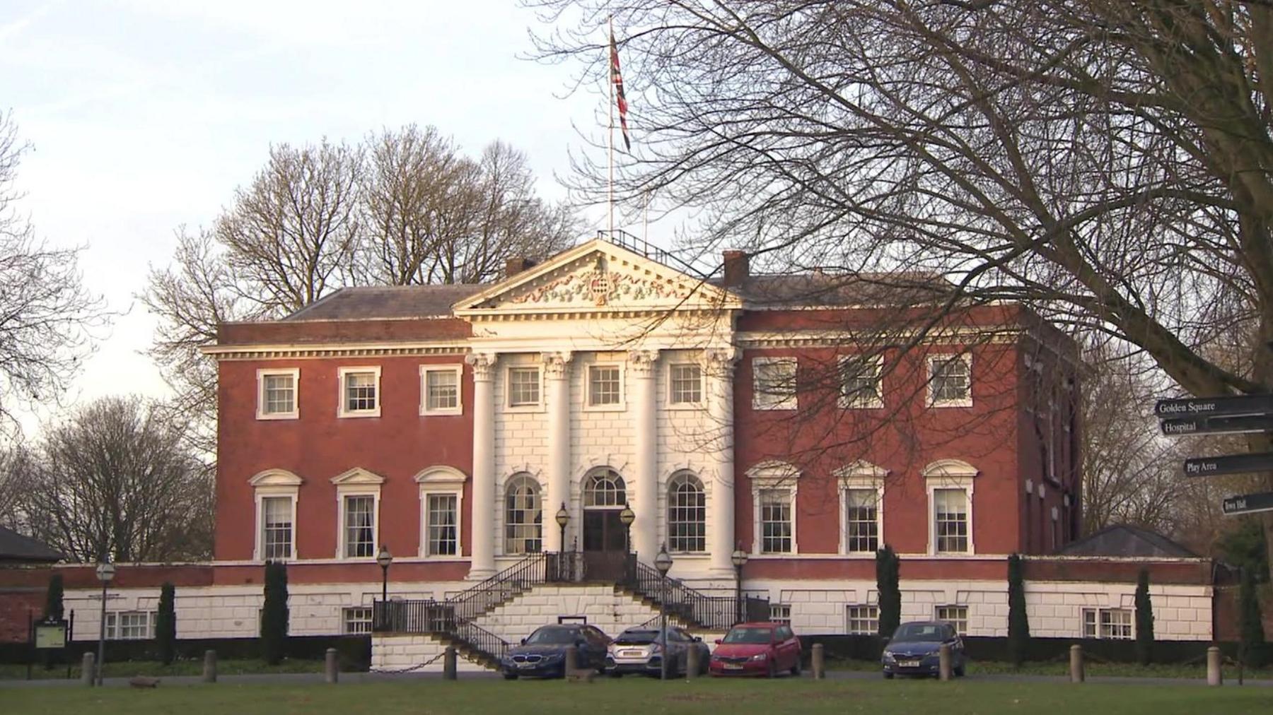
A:
[[[654,401],[658,380],[654,366],[657,350],[633,350],[628,354],[631,389],[628,393],[633,411],[633,448],[636,453],[633,486],[636,499],[629,504],[636,514],[633,522],[633,548],[642,561],[654,562],[658,553],[658,425]]]

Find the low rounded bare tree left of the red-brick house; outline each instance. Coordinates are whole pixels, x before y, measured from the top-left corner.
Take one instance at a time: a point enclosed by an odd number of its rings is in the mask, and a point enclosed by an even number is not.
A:
[[[137,397],[106,397],[51,425],[23,463],[32,536],[74,561],[205,559],[211,473],[186,424]]]

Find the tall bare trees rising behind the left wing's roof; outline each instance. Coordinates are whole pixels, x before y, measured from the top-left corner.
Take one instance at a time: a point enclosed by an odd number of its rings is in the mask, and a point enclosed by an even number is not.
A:
[[[505,258],[555,253],[577,228],[504,144],[475,162],[411,125],[359,146],[276,145],[211,229],[179,229],[173,265],[151,268],[140,296],[159,318],[150,356],[213,454],[216,366],[199,347],[218,324],[281,318],[346,285],[493,280]]]

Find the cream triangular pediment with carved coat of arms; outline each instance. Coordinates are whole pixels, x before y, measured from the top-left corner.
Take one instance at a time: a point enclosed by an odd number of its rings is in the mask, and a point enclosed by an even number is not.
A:
[[[736,309],[737,295],[594,239],[454,305],[456,316]]]

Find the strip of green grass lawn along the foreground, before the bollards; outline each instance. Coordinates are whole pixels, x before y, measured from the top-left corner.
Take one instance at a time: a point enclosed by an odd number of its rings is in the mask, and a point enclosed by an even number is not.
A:
[[[885,710],[887,709],[887,710]],[[402,681],[326,684],[160,686],[132,688],[0,688],[5,715],[47,712],[174,714],[262,712],[313,714],[463,714],[685,712],[941,712],[994,715],[1051,712],[1202,715],[1268,714],[1273,688],[1199,686],[1109,686],[1086,683],[960,681],[675,681],[598,679],[591,684],[563,681],[504,682],[495,679]]]

